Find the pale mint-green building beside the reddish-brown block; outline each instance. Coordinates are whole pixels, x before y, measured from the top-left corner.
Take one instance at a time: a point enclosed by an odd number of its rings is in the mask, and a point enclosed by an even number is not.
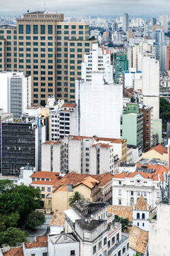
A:
[[[139,148],[139,156],[142,156],[143,146],[143,114],[139,105],[128,103],[123,113],[120,125],[121,139],[127,139],[127,144]]]

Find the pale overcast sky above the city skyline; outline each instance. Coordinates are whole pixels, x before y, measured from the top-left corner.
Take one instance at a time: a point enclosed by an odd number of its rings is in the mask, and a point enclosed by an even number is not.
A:
[[[43,11],[44,0],[0,0],[0,14],[20,15]],[[57,11],[67,16],[158,16],[169,14],[170,0],[46,0],[46,11]]]

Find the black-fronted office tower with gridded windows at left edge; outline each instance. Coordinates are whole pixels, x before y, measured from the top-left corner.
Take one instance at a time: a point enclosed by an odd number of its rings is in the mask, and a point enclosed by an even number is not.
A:
[[[33,122],[1,123],[2,175],[18,176],[22,166],[35,166],[36,128]]]

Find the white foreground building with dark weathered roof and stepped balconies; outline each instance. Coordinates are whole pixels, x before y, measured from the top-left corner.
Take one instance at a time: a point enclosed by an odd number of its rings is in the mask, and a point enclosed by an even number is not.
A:
[[[65,231],[79,237],[82,256],[128,256],[128,234],[122,233],[115,215],[108,213],[105,203],[74,203],[64,210]]]

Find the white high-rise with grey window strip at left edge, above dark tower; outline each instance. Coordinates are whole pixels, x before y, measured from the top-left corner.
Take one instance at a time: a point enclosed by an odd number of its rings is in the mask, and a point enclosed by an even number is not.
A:
[[[19,72],[0,73],[0,107],[19,118],[31,105],[31,78]]]

